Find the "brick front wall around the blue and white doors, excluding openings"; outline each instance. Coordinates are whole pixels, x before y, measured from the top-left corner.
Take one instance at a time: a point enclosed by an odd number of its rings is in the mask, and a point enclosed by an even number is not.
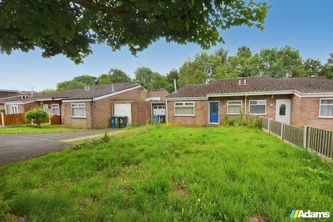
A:
[[[295,95],[274,95],[274,96],[247,96],[246,110],[249,112],[250,100],[266,100],[266,115],[258,115],[259,117],[275,119],[276,99],[291,99],[291,125],[302,126],[309,125],[317,128],[333,130],[333,118],[319,117],[319,106],[321,98],[300,98]],[[223,116],[227,115],[228,101],[242,101],[242,112],[245,113],[245,97],[217,97],[210,98],[209,101],[220,102],[220,123],[223,123]],[[190,100],[189,100],[190,101]],[[169,123],[177,123],[185,126],[207,126],[209,118],[209,101],[194,101],[195,104],[195,117],[175,117],[174,103],[175,101],[168,101],[168,119]],[[198,113],[197,113],[198,111]],[[233,119],[239,115],[228,115]]]

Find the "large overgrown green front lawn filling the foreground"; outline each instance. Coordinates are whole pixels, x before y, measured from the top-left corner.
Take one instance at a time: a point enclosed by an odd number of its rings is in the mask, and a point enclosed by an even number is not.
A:
[[[291,221],[333,212],[332,169],[257,129],[144,126],[1,167],[0,209],[28,221]]]

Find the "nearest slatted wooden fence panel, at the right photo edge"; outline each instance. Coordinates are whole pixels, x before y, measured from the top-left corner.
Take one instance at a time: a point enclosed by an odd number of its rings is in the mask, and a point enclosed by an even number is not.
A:
[[[325,157],[333,158],[333,132],[309,126],[307,148]]]

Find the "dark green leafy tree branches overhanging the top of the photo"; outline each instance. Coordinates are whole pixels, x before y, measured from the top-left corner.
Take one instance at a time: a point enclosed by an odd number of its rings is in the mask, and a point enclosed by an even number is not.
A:
[[[262,30],[267,9],[253,0],[0,0],[0,50],[38,47],[43,57],[62,53],[80,63],[95,43],[128,46],[133,55],[160,38],[209,49],[223,42],[219,30]]]

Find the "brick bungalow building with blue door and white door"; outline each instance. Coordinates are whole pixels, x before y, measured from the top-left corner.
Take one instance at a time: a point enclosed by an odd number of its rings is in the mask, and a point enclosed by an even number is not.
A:
[[[185,85],[167,96],[167,122],[210,126],[241,113],[333,130],[333,80],[250,77]]]

